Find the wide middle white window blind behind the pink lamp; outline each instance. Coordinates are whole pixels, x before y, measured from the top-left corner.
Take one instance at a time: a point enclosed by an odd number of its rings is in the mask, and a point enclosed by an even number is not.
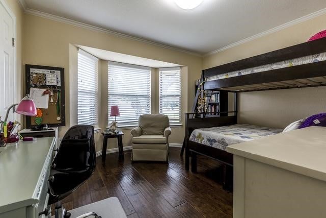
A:
[[[138,125],[142,114],[151,112],[151,68],[108,62],[108,123],[111,106],[118,105],[119,127]]]

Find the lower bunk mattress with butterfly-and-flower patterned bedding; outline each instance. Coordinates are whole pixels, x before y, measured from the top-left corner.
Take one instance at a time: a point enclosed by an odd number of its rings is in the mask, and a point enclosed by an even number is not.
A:
[[[281,133],[282,129],[259,127],[249,124],[236,124],[223,127],[196,129],[189,140],[220,150],[227,146],[244,141],[251,141],[270,135]]]

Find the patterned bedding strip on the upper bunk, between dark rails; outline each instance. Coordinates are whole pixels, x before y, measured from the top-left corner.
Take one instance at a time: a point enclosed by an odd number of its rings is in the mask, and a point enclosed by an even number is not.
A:
[[[225,79],[225,78],[229,78],[229,77],[237,77],[237,76],[242,76],[242,75],[247,75],[247,74],[255,74],[256,72],[291,67],[291,66],[296,66],[296,65],[309,64],[309,63],[325,61],[325,60],[326,60],[326,52],[320,53],[320,54],[315,54],[315,55],[309,55],[309,56],[305,56],[305,57],[301,57],[301,58],[295,58],[292,60],[286,60],[286,61],[281,61],[281,62],[277,62],[277,63],[271,63],[271,64],[262,65],[262,66],[227,72],[225,74],[208,77],[207,81]]]

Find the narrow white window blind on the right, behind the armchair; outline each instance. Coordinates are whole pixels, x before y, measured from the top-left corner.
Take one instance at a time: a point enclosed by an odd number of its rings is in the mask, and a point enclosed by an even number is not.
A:
[[[170,124],[181,124],[180,67],[159,69],[159,113],[168,115]]]

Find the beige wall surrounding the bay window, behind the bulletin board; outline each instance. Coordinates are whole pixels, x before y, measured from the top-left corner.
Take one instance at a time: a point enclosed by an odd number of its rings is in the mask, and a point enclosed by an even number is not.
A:
[[[200,77],[202,68],[202,58],[187,53],[178,52],[164,47],[147,44],[141,41],[135,41],[128,38],[121,38],[115,35],[97,32],[85,28],[80,28],[66,23],[38,17],[35,15],[24,14],[23,26],[23,64],[38,64],[46,66],[59,66],[65,68],[65,90],[66,90],[66,127],[60,128],[62,136],[67,128],[71,125],[70,109],[74,107],[72,98],[76,98],[75,93],[69,93],[70,84],[75,84],[76,80],[76,51],[74,44],[86,45],[138,57],[144,57],[159,61],[180,64],[186,67],[182,69],[182,118],[187,108],[191,108],[194,96],[193,84]],[[101,63],[101,67],[107,67]],[[104,68],[102,70],[105,71]],[[106,85],[105,80],[101,76],[101,84]],[[103,84],[104,83],[104,84]],[[102,90],[105,90],[103,87]],[[105,94],[101,93],[101,101],[107,101]],[[72,105],[71,105],[71,104]],[[107,108],[101,107],[102,110]],[[107,114],[102,111],[101,114]],[[107,116],[107,115],[105,115]],[[107,117],[101,117],[100,127],[105,127]],[[182,119],[184,121],[184,118]],[[170,142],[182,143],[184,136],[184,127],[173,130]],[[130,145],[130,130],[124,131],[124,146]],[[101,139],[97,136],[97,150],[101,149]],[[115,143],[111,143],[108,148],[115,147]]]

